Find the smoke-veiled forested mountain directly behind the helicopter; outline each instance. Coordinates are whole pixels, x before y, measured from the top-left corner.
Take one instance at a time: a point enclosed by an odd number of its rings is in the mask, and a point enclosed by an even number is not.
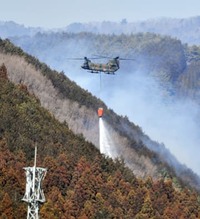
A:
[[[164,143],[180,162],[200,173],[198,46],[152,33],[58,32],[12,41],[101,98],[117,114],[127,116],[151,139]],[[116,76],[102,74],[100,81],[98,74],[80,70],[82,60],[68,59],[95,54],[134,60],[120,60]],[[105,63],[107,59],[93,61]]]

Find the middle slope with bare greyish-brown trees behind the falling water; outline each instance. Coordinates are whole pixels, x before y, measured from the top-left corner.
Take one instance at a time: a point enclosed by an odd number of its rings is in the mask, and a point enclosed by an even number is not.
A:
[[[152,176],[153,179],[163,176],[176,179],[179,176],[180,183],[198,188],[199,178],[181,165],[163,145],[150,140],[126,117],[117,116],[107,109],[104,103],[78,87],[62,72],[52,71],[8,40],[1,41],[0,51],[0,60],[6,65],[10,80],[25,84],[41,105],[59,121],[66,123],[74,133],[82,134],[99,148],[96,110],[103,106],[104,119],[114,139],[115,150],[134,174],[143,178]]]

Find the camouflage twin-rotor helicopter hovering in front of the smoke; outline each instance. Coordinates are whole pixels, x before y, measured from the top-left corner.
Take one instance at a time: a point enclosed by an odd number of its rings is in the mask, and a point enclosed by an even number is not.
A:
[[[91,58],[91,59],[102,59],[108,58],[101,56],[99,58]],[[80,60],[80,58],[74,58],[76,60]],[[89,70],[90,73],[97,73],[100,74],[101,72],[105,74],[114,75],[115,72],[120,68],[119,60],[133,60],[127,58],[120,58],[119,56],[110,59],[107,63],[95,63],[92,62],[91,59],[84,57],[84,63],[81,65],[81,68],[84,70]]]

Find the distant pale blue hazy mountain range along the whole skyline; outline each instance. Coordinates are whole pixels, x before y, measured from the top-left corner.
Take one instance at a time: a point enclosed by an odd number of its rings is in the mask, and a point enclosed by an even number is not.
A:
[[[25,27],[15,22],[0,22],[2,38],[13,36],[33,36],[37,32],[69,32],[80,33],[90,32],[95,34],[136,34],[136,33],[156,33],[168,35],[177,38],[182,43],[190,45],[200,44],[200,17],[191,18],[157,18],[137,22],[129,22],[122,19],[121,22],[90,22],[90,23],[72,23],[60,29],[45,30],[44,28]]]

